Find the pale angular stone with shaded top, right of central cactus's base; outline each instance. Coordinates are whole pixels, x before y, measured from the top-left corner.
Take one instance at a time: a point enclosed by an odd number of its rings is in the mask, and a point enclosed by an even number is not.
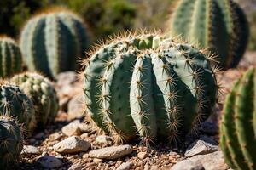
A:
[[[185,156],[191,157],[195,155],[204,155],[216,150],[220,150],[218,144],[207,136],[203,136],[202,138],[197,139],[193,144],[189,145],[185,152]]]

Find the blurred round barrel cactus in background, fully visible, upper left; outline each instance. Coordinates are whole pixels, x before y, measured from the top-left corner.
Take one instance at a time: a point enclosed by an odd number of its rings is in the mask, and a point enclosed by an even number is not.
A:
[[[26,23],[20,37],[20,49],[30,71],[55,77],[62,71],[74,71],[79,57],[88,47],[88,32],[75,14],[52,9]]]

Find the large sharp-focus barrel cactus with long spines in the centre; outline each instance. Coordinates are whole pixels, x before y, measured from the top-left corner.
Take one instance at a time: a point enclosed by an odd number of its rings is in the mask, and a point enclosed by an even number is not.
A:
[[[176,142],[212,112],[217,96],[209,58],[157,34],[118,37],[85,63],[86,112],[117,139]]]

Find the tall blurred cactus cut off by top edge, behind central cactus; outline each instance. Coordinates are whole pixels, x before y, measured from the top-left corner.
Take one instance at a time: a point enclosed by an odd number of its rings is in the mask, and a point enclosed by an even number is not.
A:
[[[248,40],[247,19],[233,0],[181,0],[167,33],[218,56],[223,69],[236,67]]]

